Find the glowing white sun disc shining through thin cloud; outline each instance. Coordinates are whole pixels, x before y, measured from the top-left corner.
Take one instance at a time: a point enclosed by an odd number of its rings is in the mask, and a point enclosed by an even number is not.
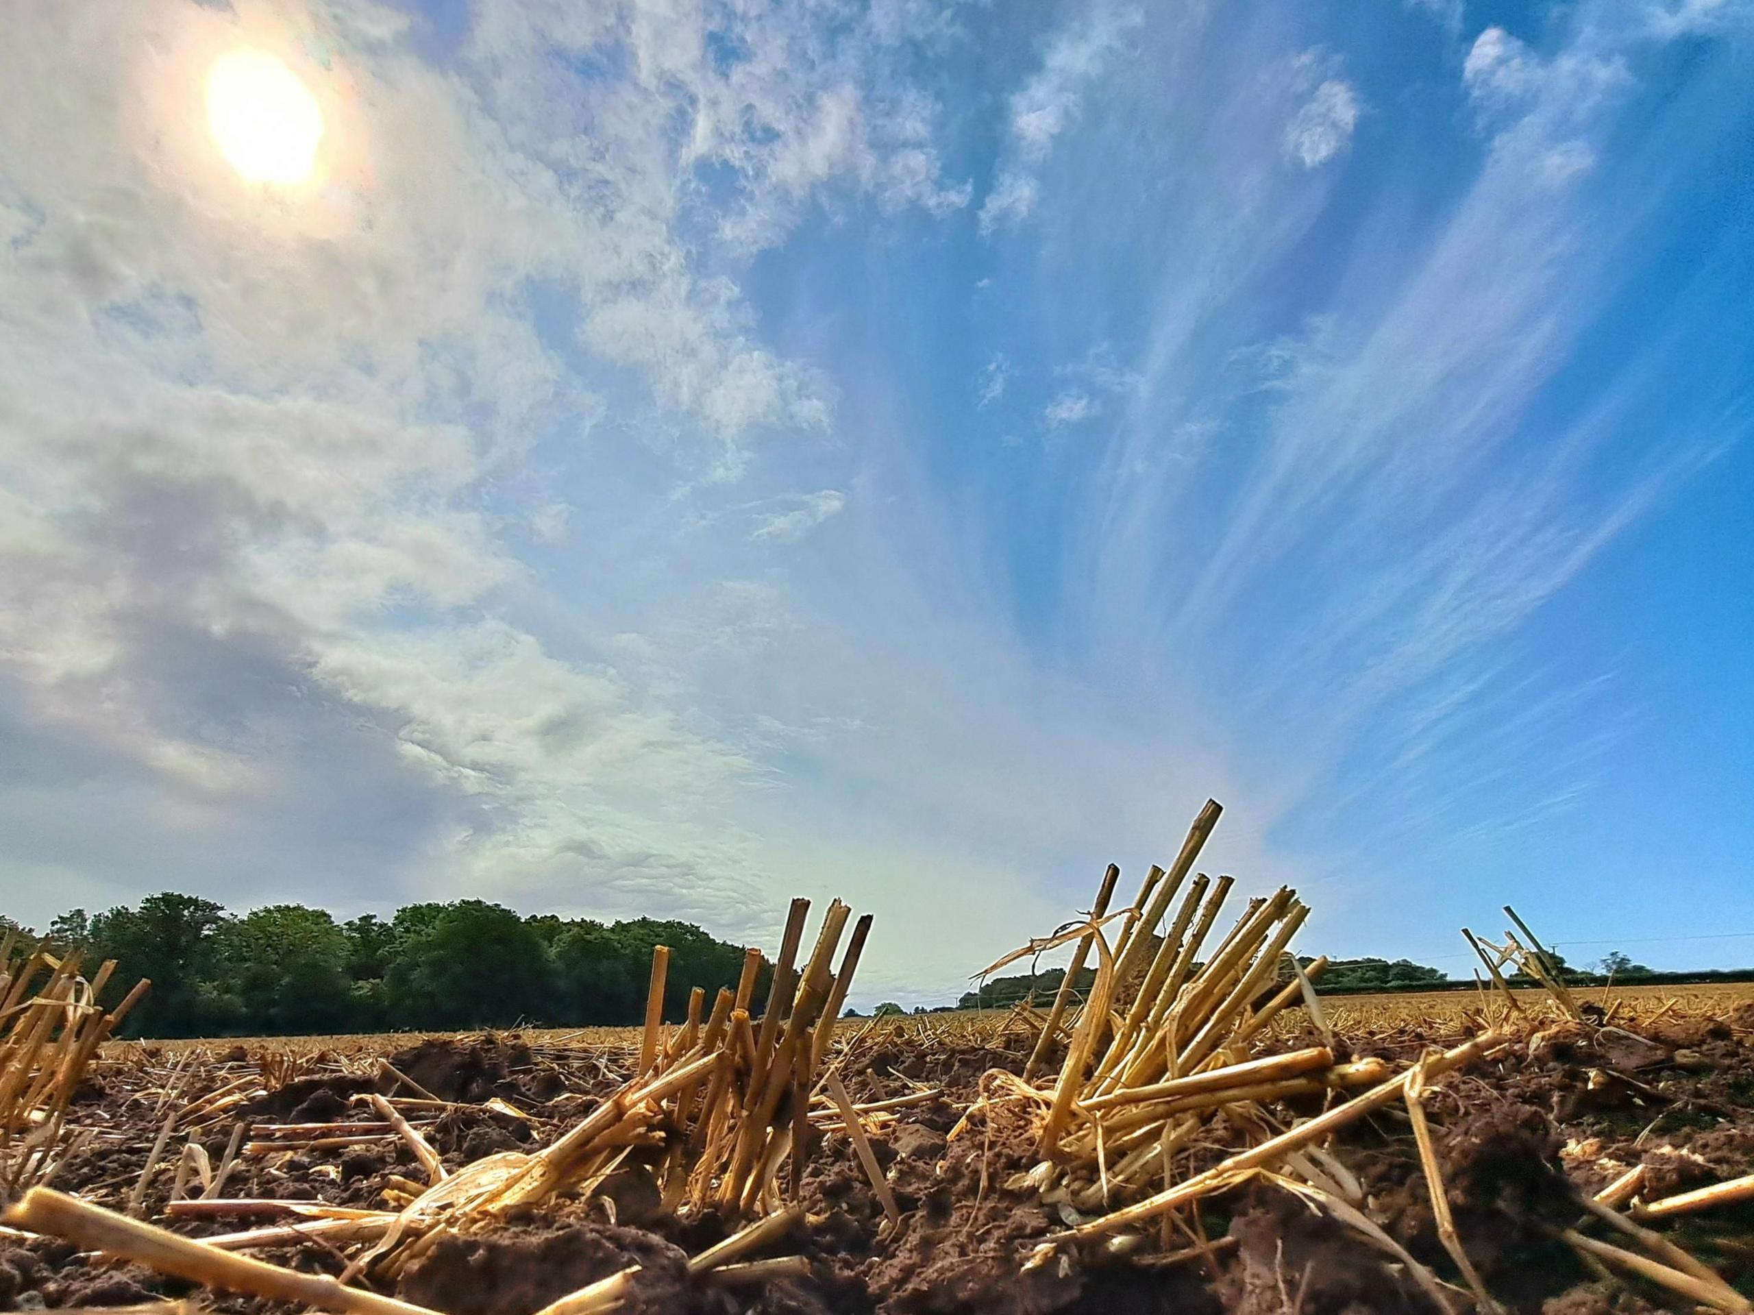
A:
[[[232,51],[207,74],[207,128],[246,181],[284,188],[310,177],[323,110],[281,60]]]

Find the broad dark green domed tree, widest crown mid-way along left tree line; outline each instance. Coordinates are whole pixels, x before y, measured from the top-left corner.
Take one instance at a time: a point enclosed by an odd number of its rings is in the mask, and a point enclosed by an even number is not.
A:
[[[389,1015],[414,1027],[509,1027],[554,1017],[553,964],[542,938],[517,913],[482,899],[416,905],[403,919],[384,999]]]

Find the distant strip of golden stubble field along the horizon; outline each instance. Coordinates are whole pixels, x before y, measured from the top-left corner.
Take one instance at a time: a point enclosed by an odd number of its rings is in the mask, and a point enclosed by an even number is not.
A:
[[[1512,992],[1526,1008],[1537,1008],[1542,1001],[1540,991]],[[1677,1012],[1686,1015],[1726,1015],[1738,1005],[1754,1001],[1754,982],[1710,982],[1700,985],[1626,985],[1626,987],[1579,987],[1572,992],[1577,999],[1600,1005],[1610,1012],[1610,1020],[1649,1020],[1658,1013]],[[1473,991],[1421,991],[1391,992],[1380,996],[1326,996],[1323,1008],[1328,1020],[1344,1031],[1379,1031],[1384,1027],[1401,1027],[1412,1022],[1435,1026],[1458,1024],[1468,1013],[1480,1010],[1482,998]],[[1498,1006],[1498,1001],[1494,1001]],[[966,1040],[996,1038],[1009,1017],[1009,1010],[952,1010],[947,1013],[905,1013],[891,1019],[842,1019],[838,1031],[852,1033],[865,1026],[875,1029],[923,1036],[928,1033],[951,1033]],[[123,1047],[161,1047],[165,1050],[184,1050],[189,1047],[242,1045],[246,1048],[296,1048],[296,1050],[337,1050],[342,1054],[384,1054],[400,1045],[412,1045],[423,1036],[465,1036],[468,1033],[377,1033],[351,1036],[226,1036],[212,1040],[167,1040],[167,1041],[116,1041],[112,1050]],[[523,1027],[517,1029],[531,1045],[568,1047],[593,1050],[600,1047],[638,1045],[638,1027]]]

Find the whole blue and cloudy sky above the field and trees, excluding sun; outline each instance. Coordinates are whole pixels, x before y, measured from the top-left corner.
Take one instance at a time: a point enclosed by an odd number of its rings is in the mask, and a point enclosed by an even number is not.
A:
[[[0,906],[1754,963],[1754,2],[14,0]],[[246,179],[207,79],[323,135]]]

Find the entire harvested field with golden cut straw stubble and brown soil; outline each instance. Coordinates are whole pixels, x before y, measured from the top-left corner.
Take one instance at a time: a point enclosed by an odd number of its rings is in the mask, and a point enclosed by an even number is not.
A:
[[[1059,933],[1084,1006],[837,1026],[866,924],[803,956],[800,901],[754,1017],[109,1043],[14,1175],[0,1306],[1750,1310],[1754,992],[1312,1010],[1301,905],[1223,933],[1198,838]]]

